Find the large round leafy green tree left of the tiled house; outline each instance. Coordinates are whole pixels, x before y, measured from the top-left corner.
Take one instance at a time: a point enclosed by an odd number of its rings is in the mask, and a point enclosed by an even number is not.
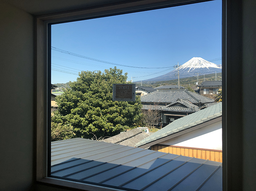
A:
[[[113,83],[125,83],[127,73],[116,67],[101,71],[82,71],[70,82],[64,94],[56,97],[58,110],[52,122],[72,126],[75,137],[92,138],[117,135],[135,127],[141,118],[139,96],[136,102],[112,101]]]

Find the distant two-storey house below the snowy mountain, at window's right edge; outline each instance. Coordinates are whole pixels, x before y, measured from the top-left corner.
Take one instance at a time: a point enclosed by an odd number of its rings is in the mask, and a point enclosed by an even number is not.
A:
[[[198,85],[200,95],[210,94],[216,95],[219,90],[222,90],[222,80],[218,81],[203,81]]]

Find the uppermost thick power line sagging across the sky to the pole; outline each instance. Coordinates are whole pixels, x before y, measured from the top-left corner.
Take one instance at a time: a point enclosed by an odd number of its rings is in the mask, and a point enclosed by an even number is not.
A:
[[[69,54],[69,55],[72,55],[72,56],[77,56],[77,57],[80,57],[80,58],[84,58],[84,59],[88,59],[88,60],[93,60],[93,61],[96,61],[96,62],[101,62],[101,63],[106,63],[106,64],[112,64],[112,65],[119,65],[119,66],[123,66],[123,67],[130,67],[130,68],[144,68],[144,69],[160,69],[160,68],[172,68],[172,67],[158,67],[158,68],[147,68],[147,67],[137,67],[137,66],[129,66],[129,65],[123,65],[123,64],[116,64],[116,63],[113,63],[113,62],[107,62],[107,61],[104,61],[104,60],[99,60],[99,59],[95,59],[95,58],[90,58],[88,56],[83,56],[83,55],[80,55],[80,54],[75,54],[75,53],[71,53],[69,51],[66,51],[66,50],[62,50],[62,49],[58,49],[56,47],[51,47],[52,50],[55,50],[55,51],[58,51],[60,53],[64,53],[64,54]]]

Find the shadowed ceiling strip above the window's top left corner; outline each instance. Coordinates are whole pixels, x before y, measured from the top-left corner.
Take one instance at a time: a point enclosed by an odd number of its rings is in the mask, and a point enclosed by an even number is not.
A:
[[[0,0],[32,15],[75,10],[90,6],[111,4],[125,0]]]

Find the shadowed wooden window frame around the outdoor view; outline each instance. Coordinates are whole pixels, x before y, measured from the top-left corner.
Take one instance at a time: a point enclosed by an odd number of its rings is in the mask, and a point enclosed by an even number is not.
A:
[[[138,12],[142,10],[151,10],[166,8],[171,6],[185,5],[191,3],[200,3],[208,0],[144,0],[144,1],[132,1],[127,3],[112,4],[112,5],[101,5],[93,8],[84,8],[83,10],[62,12],[50,15],[42,15],[35,18],[35,76],[36,76],[36,140],[35,140],[35,154],[36,154],[36,173],[35,179],[36,182],[45,185],[54,185],[55,187],[66,187],[69,189],[81,189],[81,190],[118,190],[113,188],[107,188],[103,186],[95,186],[86,183],[79,183],[73,181],[67,181],[63,179],[51,178],[48,177],[47,172],[49,172],[50,167],[47,166],[47,161],[50,160],[50,156],[47,154],[48,145],[50,142],[48,137],[50,132],[47,131],[47,119],[50,115],[47,111],[47,103],[50,104],[50,97],[47,92],[50,90],[50,87],[47,87],[48,82],[50,81],[48,65],[50,55],[49,53],[49,42],[48,37],[51,35],[48,33],[49,23],[62,23],[69,21],[79,21],[84,18],[97,18],[105,17],[116,14],[125,14]],[[231,33],[234,28],[242,28],[242,24],[239,18],[242,18],[242,13],[237,13],[235,10],[240,10],[240,4],[234,5],[231,4],[231,0],[222,0],[222,79],[223,79],[223,118],[222,118],[222,135],[223,135],[223,190],[232,190],[236,188],[236,182],[239,182],[239,175],[242,174],[242,167],[234,168],[234,162],[232,158],[236,158],[236,162],[242,164],[242,156],[240,158],[235,157],[232,152],[232,147],[235,147],[238,150],[242,150],[242,146],[239,146],[239,140],[242,138],[239,137],[239,133],[235,133],[238,130],[234,130],[233,124],[239,123],[236,120],[236,116],[230,116],[234,107],[231,103],[237,103],[240,97],[231,96],[235,89],[232,87],[234,83],[233,80],[236,79],[236,82],[239,82],[240,77],[238,76],[241,73],[241,68],[239,64],[242,60],[242,53],[240,52],[240,45],[242,40],[239,41],[237,37],[242,36],[242,32],[237,30],[237,33]],[[235,14],[234,14],[235,13]],[[239,21],[237,21],[239,20]],[[242,30],[242,29],[241,29]],[[234,41],[236,40],[236,41]],[[240,44],[239,44],[240,43]],[[234,45],[235,44],[235,45]],[[236,48],[237,47],[237,48]],[[236,54],[238,53],[238,54]],[[232,57],[231,55],[235,55]],[[232,64],[231,64],[232,63]],[[235,65],[235,66],[234,66]],[[234,68],[232,68],[232,67]],[[242,81],[242,80],[240,80]],[[47,82],[47,83],[45,83]],[[242,83],[242,82],[241,82]],[[229,90],[229,91],[227,91]],[[226,97],[229,97],[227,100]],[[232,97],[232,98],[230,98]],[[228,105],[228,107],[227,107]],[[242,106],[235,105],[236,108]],[[49,107],[50,108],[50,107]],[[240,109],[239,108],[239,109]],[[238,115],[240,113],[238,112]],[[238,119],[238,118],[237,118]],[[233,132],[231,134],[231,132]],[[234,135],[237,135],[234,139]],[[238,143],[238,144],[237,144]],[[236,145],[237,144],[237,145]],[[234,146],[235,145],[235,146]],[[235,153],[236,154],[236,153]],[[229,156],[229,157],[227,157]],[[230,162],[230,163],[229,163]],[[229,164],[229,165],[227,165]],[[242,176],[242,175],[241,175]],[[238,177],[238,178],[237,178]],[[241,177],[240,177],[241,178]]]

